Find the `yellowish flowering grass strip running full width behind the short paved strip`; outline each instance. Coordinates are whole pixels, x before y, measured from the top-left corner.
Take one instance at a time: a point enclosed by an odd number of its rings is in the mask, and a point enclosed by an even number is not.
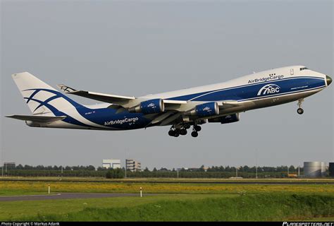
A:
[[[107,192],[137,193],[142,187],[144,193],[159,194],[334,194],[333,184],[168,184],[131,182],[4,182],[0,181],[0,196],[20,194],[46,194],[48,184],[51,192]]]

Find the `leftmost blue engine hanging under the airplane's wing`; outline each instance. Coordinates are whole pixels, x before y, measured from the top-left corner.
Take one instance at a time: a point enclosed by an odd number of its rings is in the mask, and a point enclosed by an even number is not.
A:
[[[154,114],[160,113],[165,110],[165,105],[163,104],[162,99],[146,100],[140,102],[140,105],[136,107],[131,107],[129,112],[136,112],[142,114]]]

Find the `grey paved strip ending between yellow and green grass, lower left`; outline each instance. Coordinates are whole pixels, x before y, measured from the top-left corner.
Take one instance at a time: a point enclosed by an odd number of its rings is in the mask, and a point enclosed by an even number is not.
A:
[[[144,194],[152,196],[154,194]],[[27,195],[27,196],[0,196],[1,201],[37,201],[37,200],[55,200],[55,199],[73,199],[73,198],[111,198],[111,197],[139,197],[140,194],[111,194],[111,193],[60,193],[50,195]]]

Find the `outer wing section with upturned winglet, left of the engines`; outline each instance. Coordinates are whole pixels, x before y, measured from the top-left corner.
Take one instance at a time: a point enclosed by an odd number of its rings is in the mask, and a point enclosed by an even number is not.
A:
[[[92,100],[98,100],[101,102],[108,102],[111,104],[120,104],[122,102],[128,102],[129,100],[135,100],[135,97],[127,97],[127,96],[120,96],[120,95],[111,95],[105,93],[94,93],[90,91],[84,90],[75,90],[73,88],[68,87],[67,85],[58,85],[64,93],[78,95],[80,97],[86,97]]]

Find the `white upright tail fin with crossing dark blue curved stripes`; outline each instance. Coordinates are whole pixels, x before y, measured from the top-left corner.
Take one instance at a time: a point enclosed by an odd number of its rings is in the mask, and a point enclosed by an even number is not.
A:
[[[32,114],[52,112],[56,115],[65,108],[82,107],[31,73],[15,73],[12,77]]]

